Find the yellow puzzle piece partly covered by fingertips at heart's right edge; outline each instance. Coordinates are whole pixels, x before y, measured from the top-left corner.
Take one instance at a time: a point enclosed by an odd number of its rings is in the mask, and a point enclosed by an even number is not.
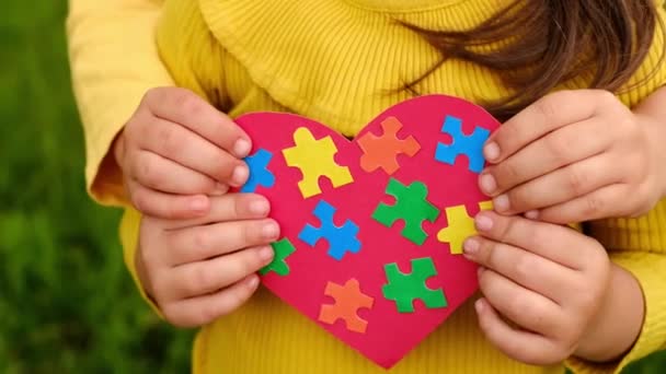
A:
[[[493,209],[492,201],[479,203],[481,210]],[[462,255],[462,242],[476,234],[474,219],[467,213],[464,206],[449,207],[446,209],[448,226],[437,233],[437,241],[448,243],[451,254]]]

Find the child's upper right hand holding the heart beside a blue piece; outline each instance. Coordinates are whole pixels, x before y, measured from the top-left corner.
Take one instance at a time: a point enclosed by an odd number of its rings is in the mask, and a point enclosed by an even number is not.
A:
[[[605,91],[548,95],[491,136],[493,165],[480,187],[503,214],[553,223],[640,215],[666,186],[659,125]]]

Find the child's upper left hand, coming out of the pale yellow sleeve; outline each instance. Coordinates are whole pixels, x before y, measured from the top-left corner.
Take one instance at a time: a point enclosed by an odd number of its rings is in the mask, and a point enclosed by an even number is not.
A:
[[[149,91],[115,145],[133,204],[165,219],[190,219],[209,209],[207,195],[241,186],[240,160],[250,138],[196,94],[177,87]]]

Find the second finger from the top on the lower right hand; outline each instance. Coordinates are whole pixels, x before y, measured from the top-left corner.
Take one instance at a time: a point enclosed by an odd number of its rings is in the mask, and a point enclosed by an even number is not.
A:
[[[464,257],[510,279],[520,287],[560,304],[567,297],[563,280],[574,279],[574,270],[525,249],[482,236],[464,242]],[[493,303],[493,305],[495,305]],[[527,327],[527,326],[526,326]]]

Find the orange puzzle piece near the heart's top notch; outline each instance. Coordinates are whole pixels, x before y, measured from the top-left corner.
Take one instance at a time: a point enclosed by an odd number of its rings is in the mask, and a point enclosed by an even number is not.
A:
[[[368,132],[358,139],[358,145],[364,151],[360,156],[360,167],[368,173],[381,167],[391,175],[400,168],[398,155],[406,154],[412,157],[421,150],[421,144],[412,136],[405,139],[398,138],[402,124],[395,117],[382,120],[381,128],[383,129],[381,137]]]

